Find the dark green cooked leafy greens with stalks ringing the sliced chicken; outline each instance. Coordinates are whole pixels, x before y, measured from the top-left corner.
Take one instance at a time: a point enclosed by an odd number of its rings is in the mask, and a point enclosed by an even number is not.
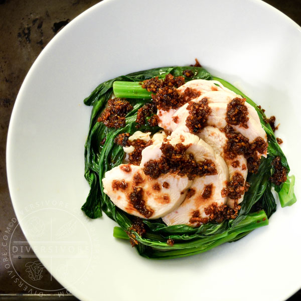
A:
[[[215,79],[246,98],[246,101],[258,112],[261,125],[267,133],[268,156],[262,158],[256,175],[248,175],[247,181],[250,188],[244,195],[241,210],[235,220],[225,220],[220,224],[209,222],[198,228],[187,225],[167,226],[162,219],[143,220],[146,233],[140,236],[131,228],[133,217],[115,207],[108,196],[103,193],[101,180],[106,171],[120,165],[123,159],[123,149],[114,143],[114,138],[120,133],[129,132],[132,134],[137,130],[135,122],[137,110],[144,103],[149,102],[152,97],[152,93],[143,89],[139,82],[155,76],[164,78],[168,73],[174,76],[183,76],[184,71],[187,70],[191,70],[193,76],[185,77],[185,81]],[[117,97],[127,98],[133,106],[133,109],[126,115],[125,127],[119,129],[107,128],[103,123],[97,122],[97,118],[103,111],[112,92]],[[276,203],[271,193],[272,186],[278,192],[282,207],[290,206],[296,201],[293,193],[293,176],[287,177],[287,181],[281,186],[272,185],[270,182],[271,162],[276,156],[281,158],[281,163],[287,172],[289,166],[270,125],[265,122],[264,112],[241,91],[220,78],[212,77],[204,68],[165,67],[119,76],[101,83],[84,100],[84,103],[93,106],[93,108],[89,134],[85,143],[85,178],[91,189],[82,210],[90,218],[98,218],[104,212],[108,217],[115,220],[119,227],[114,228],[114,237],[122,239],[131,237],[130,239],[137,243],[135,248],[138,253],[146,258],[168,259],[202,253],[222,243],[236,241],[254,229],[267,225],[268,218],[276,210]],[[139,128],[141,131],[152,133],[159,129],[159,127],[150,127],[147,124]],[[170,243],[171,241],[173,243]]]

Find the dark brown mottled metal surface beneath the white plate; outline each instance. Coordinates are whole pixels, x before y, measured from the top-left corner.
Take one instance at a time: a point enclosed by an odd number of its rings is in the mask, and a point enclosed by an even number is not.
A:
[[[63,299],[76,300],[45,268],[38,284],[37,280],[30,279],[25,266],[28,262],[26,258],[13,258],[16,271],[12,266],[8,266],[10,261],[6,235],[8,236],[18,222],[8,190],[5,153],[14,102],[31,65],[61,28],[98,2],[93,0],[0,0],[0,299],[2,300],[29,300],[40,296],[49,300],[54,300],[59,296]],[[301,0],[266,0],[265,2],[301,25]],[[14,237],[25,240],[19,227],[16,228]],[[19,279],[18,274],[30,285]],[[289,301],[297,300],[301,300],[301,290],[289,298]]]

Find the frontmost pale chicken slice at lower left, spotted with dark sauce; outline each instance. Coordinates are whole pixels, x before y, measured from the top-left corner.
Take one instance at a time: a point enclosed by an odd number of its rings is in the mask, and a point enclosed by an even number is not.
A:
[[[121,210],[156,219],[179,207],[192,181],[168,174],[154,180],[145,176],[140,166],[121,164],[105,173],[102,184],[103,192]],[[141,198],[135,200],[137,192],[141,192]]]

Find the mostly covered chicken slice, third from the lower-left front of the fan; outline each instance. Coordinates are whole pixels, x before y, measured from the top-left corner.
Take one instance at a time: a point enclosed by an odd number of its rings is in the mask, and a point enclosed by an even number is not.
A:
[[[239,173],[243,177],[244,181],[246,181],[248,174],[247,160],[242,155],[238,155],[234,159],[230,159],[227,156],[225,156],[224,146],[226,145],[228,139],[224,132],[222,132],[216,127],[206,126],[202,129],[200,133],[198,133],[198,136],[210,146],[212,146],[212,148],[217,154],[222,156],[229,170],[230,181],[232,177],[237,173]],[[241,203],[243,201],[243,197],[244,196],[236,200],[236,202],[238,204]],[[227,201],[227,205],[233,208],[234,202],[235,200],[229,198]]]

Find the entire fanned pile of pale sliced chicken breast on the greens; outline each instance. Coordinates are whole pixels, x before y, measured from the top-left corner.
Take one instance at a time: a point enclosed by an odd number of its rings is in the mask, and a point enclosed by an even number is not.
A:
[[[217,206],[227,204],[233,208],[234,202],[240,199],[225,197],[222,191],[236,174],[247,177],[247,161],[244,156],[237,155],[234,159],[225,156],[224,147],[228,141],[226,134],[221,130],[227,125],[227,105],[234,98],[242,98],[233,91],[225,88],[218,81],[192,80],[177,90],[184,93],[185,89],[195,89],[200,96],[192,100],[198,103],[206,98],[211,109],[206,117],[205,127],[198,133],[192,134],[186,125],[189,116],[188,105],[184,104],[178,109],[168,111],[158,110],[159,126],[172,132],[170,136],[164,131],[154,134],[135,132],[129,140],[152,140],[152,144],[142,150],[140,166],[123,164],[106,172],[103,178],[104,193],[121,210],[141,218],[163,218],[167,225],[186,224],[199,226],[202,218],[207,218],[206,208],[216,203]],[[266,133],[261,127],[259,116],[253,106],[244,103],[247,107],[248,120],[246,126],[231,125],[252,143],[257,137],[266,141]],[[153,179],[143,172],[145,163],[149,160],[158,161],[163,156],[161,146],[163,143],[176,145],[182,143],[188,146],[185,154],[193,155],[197,162],[210,160],[217,170],[216,175],[195,177],[193,181],[187,176],[178,174],[161,174]],[[130,153],[134,146],[124,147],[125,153]],[[260,158],[258,154],[258,158]],[[263,154],[266,156],[266,153]],[[125,162],[127,154],[125,156]],[[146,173],[146,171],[145,171]],[[139,190],[140,199],[133,199],[133,193]],[[141,209],[142,208],[142,209]],[[144,208],[144,209],[143,209]],[[146,212],[146,214],[145,214]]]

